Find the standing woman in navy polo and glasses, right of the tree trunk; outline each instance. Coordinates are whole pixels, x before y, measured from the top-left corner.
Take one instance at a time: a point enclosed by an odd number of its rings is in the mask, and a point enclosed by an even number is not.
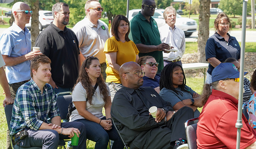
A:
[[[240,63],[241,48],[235,37],[229,35],[232,30],[229,17],[225,13],[219,13],[214,21],[216,32],[209,37],[205,46],[206,61],[209,61],[205,83],[210,84],[211,72],[227,58],[235,58]]]

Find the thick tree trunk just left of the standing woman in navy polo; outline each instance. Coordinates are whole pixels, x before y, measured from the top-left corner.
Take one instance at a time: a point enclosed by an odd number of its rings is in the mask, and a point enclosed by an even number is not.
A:
[[[211,0],[199,0],[198,62],[205,62],[205,45],[209,38]]]

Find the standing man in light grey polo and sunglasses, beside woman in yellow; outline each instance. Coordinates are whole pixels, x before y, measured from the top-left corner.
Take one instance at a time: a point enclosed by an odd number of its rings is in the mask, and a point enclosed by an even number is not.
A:
[[[79,66],[87,56],[97,57],[101,64],[101,74],[106,80],[106,56],[103,52],[105,42],[109,36],[108,25],[101,21],[103,8],[98,0],[88,0],[85,4],[86,16],[76,23],[73,31],[79,41],[81,55],[79,55]]]

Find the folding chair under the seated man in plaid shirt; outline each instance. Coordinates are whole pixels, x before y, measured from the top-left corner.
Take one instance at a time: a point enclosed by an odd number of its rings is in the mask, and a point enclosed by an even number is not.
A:
[[[10,122],[11,122],[11,115],[12,115],[12,107],[13,107],[13,104],[11,104],[11,105],[6,105],[6,106],[5,106],[5,116],[6,116],[6,121],[7,121],[7,125],[8,125],[8,130],[10,130]],[[17,144],[14,145],[14,144],[13,144],[14,140],[12,139],[11,136],[10,136],[10,138],[11,138],[11,148],[12,148],[12,149],[42,149],[42,147],[29,147],[29,148],[22,148],[22,147],[19,147],[19,145],[17,145]],[[65,145],[66,145],[65,141],[62,140],[62,139],[60,139],[59,145],[58,145],[59,149],[61,149],[62,146],[64,146],[64,148],[65,148]]]

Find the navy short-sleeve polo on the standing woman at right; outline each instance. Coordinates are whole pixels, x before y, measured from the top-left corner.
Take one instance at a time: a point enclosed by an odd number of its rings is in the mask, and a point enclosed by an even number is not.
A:
[[[217,58],[220,62],[224,62],[227,58],[240,59],[241,48],[239,46],[236,37],[229,36],[229,41],[220,36],[217,32],[208,38],[205,45],[205,58]],[[211,75],[214,67],[209,63],[209,69],[207,72]]]

